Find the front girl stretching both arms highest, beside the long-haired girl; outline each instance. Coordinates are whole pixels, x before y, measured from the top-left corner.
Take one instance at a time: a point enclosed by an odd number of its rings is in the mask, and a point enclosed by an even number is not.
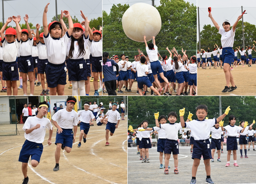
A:
[[[46,44],[48,64],[46,66],[46,79],[50,88],[50,95],[64,95],[67,78],[65,65],[67,44],[73,32],[73,22],[69,11],[64,10],[64,17],[68,18],[69,29],[62,35],[63,27],[60,22],[54,21],[47,26],[48,3],[43,13],[44,41]],[[50,36],[51,35],[51,36]],[[56,54],[58,53],[58,54]]]

